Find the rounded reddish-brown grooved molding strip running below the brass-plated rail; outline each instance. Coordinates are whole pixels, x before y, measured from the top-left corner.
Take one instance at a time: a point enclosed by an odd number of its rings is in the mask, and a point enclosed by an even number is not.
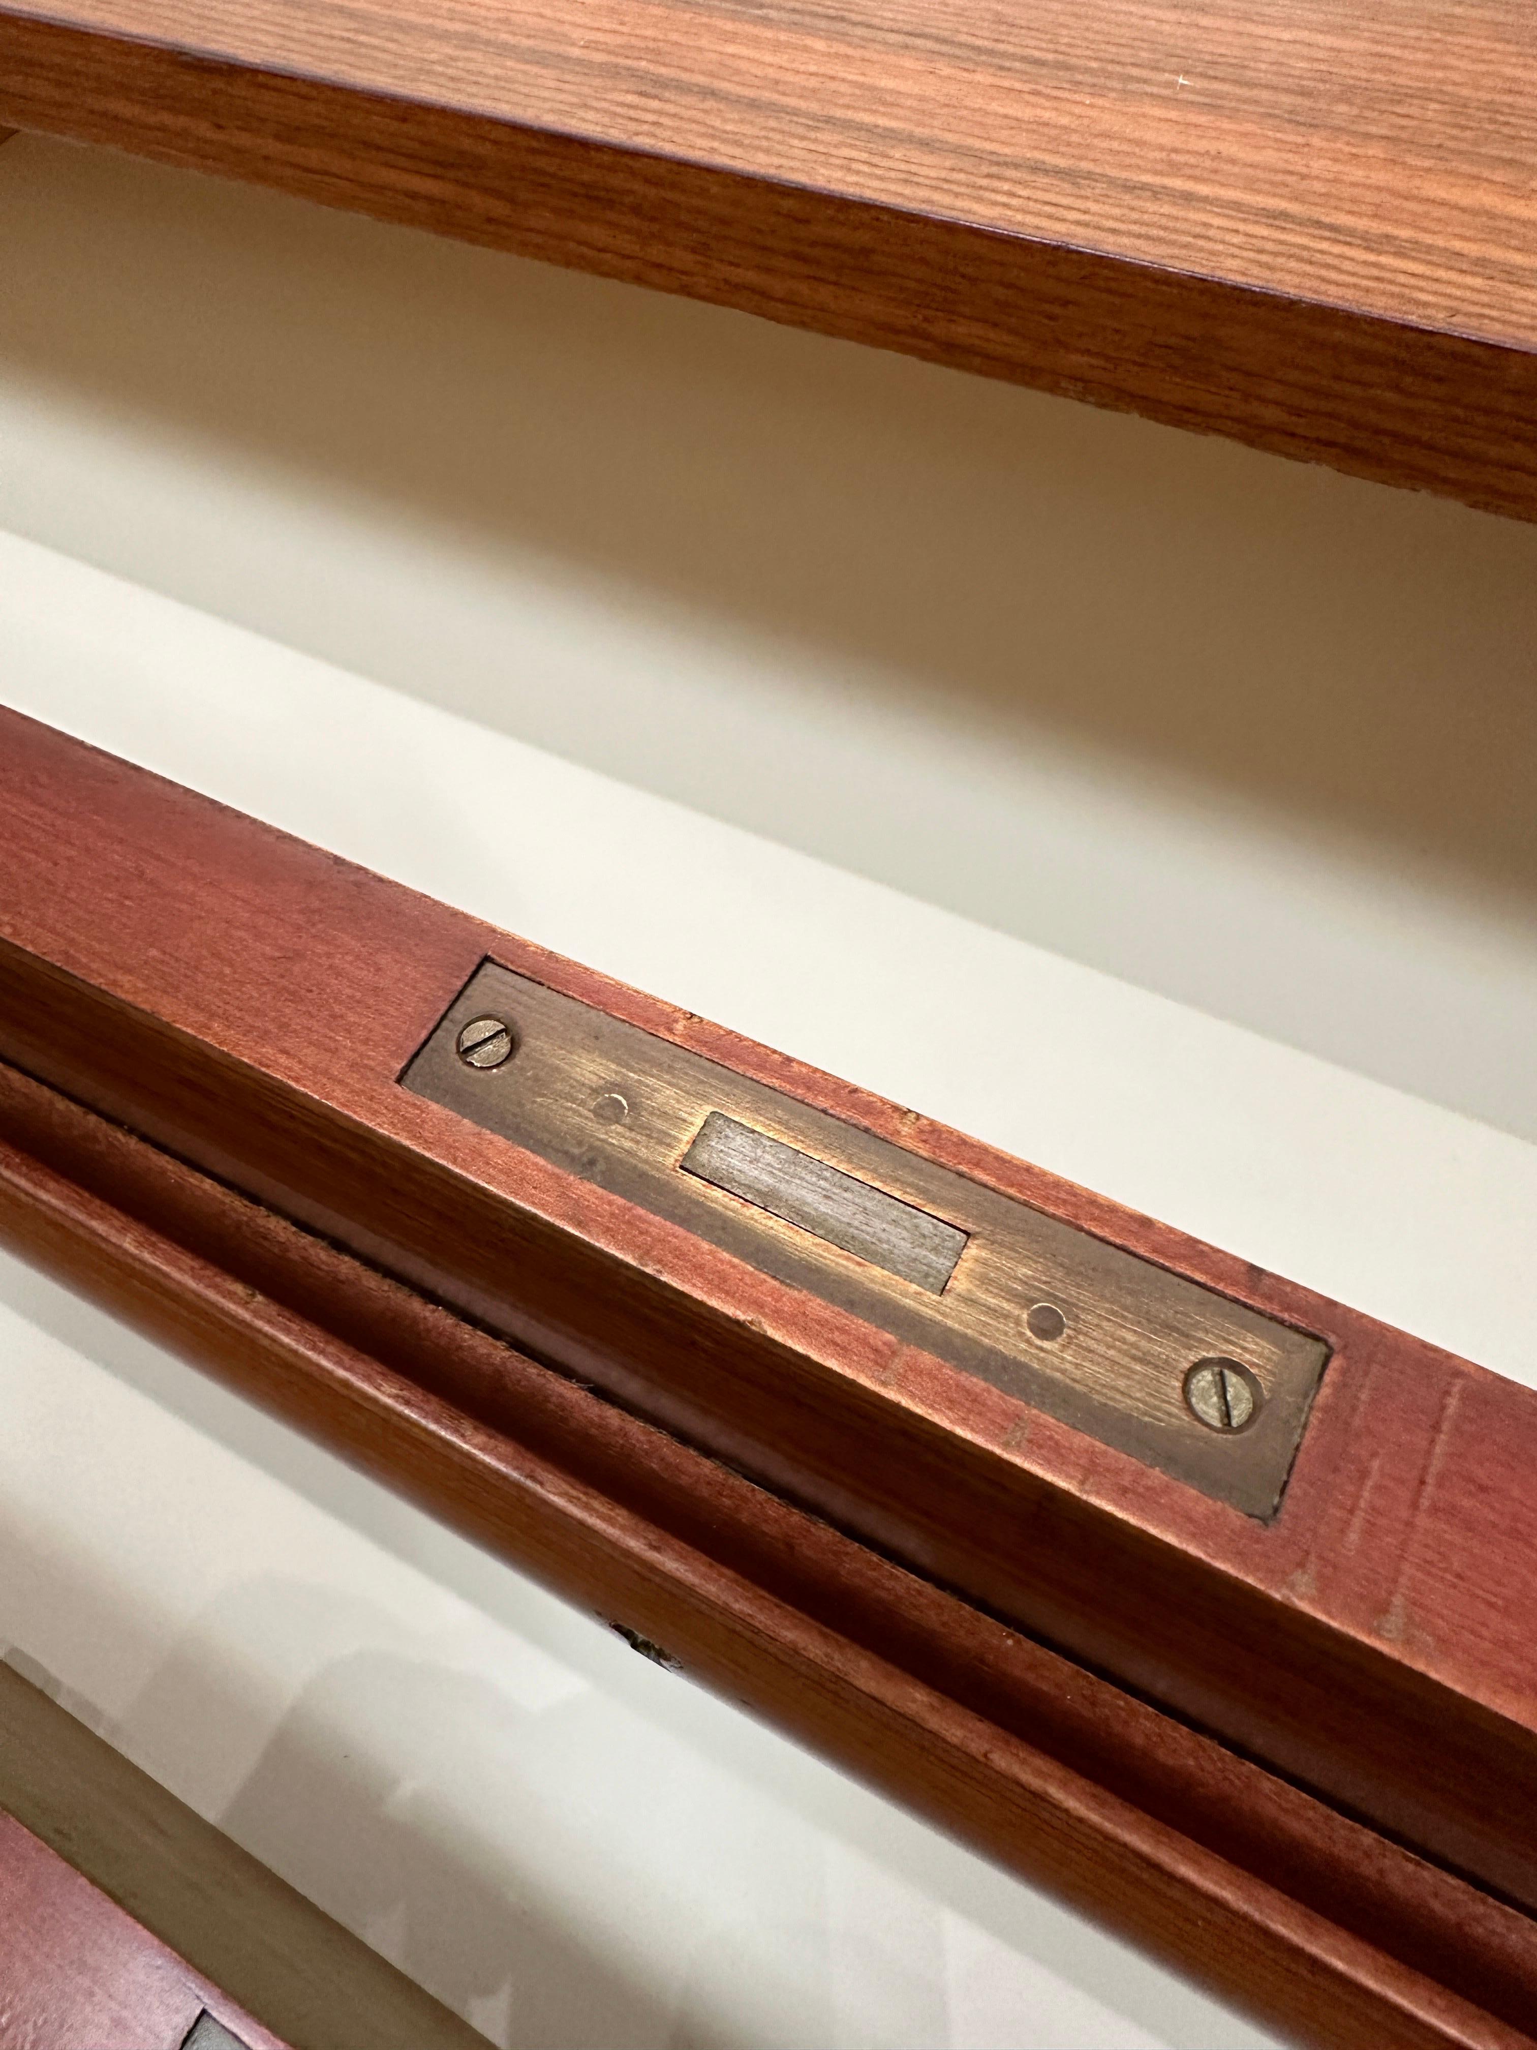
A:
[[[1297,2040],[1531,2044],[1529,1917],[4,1068],[0,1240]]]

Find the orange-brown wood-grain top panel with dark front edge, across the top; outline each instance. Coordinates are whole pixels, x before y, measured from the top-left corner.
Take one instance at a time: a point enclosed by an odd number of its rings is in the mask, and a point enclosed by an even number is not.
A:
[[[1537,517],[1523,0],[4,0],[0,119]]]

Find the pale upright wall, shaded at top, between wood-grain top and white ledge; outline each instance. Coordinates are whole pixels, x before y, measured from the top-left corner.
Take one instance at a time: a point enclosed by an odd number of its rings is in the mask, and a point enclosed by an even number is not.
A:
[[[0,525],[1537,1138],[1537,527],[39,139]]]

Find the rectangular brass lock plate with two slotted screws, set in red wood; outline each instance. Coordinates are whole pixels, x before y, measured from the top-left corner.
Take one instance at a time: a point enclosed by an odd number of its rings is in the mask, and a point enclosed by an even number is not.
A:
[[[406,1089],[1252,1517],[1328,1349],[486,961]]]

